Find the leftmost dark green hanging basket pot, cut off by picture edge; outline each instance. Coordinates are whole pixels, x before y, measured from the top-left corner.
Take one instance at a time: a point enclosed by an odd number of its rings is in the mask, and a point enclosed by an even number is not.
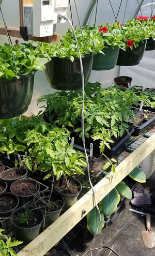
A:
[[[0,119],[23,114],[32,100],[35,72],[19,79],[0,80]]]

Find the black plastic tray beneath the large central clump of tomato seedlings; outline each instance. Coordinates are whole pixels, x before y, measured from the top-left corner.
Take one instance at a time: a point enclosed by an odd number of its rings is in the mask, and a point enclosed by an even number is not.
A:
[[[115,142],[114,145],[110,145],[111,149],[105,148],[104,154],[108,157],[113,157],[114,155],[119,155],[126,147],[126,143],[130,140],[131,134],[134,132],[134,129],[131,127],[129,133],[122,135],[121,139]],[[83,145],[82,139],[79,137],[75,137],[74,143],[77,145]],[[93,153],[96,155],[100,155],[99,144],[100,141],[93,141],[92,139],[85,139],[85,145],[87,148],[90,148],[90,143],[93,143]]]

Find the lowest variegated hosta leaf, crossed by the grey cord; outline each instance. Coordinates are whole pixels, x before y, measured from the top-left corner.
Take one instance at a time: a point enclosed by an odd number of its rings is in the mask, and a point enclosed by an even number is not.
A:
[[[87,229],[90,231],[90,233],[95,236],[96,230],[99,224],[99,214],[97,211],[97,208],[93,208],[90,213],[87,214]],[[101,230],[104,228],[104,216],[101,213],[101,221],[98,228],[97,235],[101,232]]]

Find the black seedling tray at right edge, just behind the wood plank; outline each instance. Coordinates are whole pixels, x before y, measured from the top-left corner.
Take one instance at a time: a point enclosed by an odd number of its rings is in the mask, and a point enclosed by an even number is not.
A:
[[[149,111],[149,112],[151,112],[151,111]],[[154,113],[154,112],[151,112],[151,113]],[[139,113],[138,115],[140,115],[140,114],[141,113]],[[137,117],[138,117],[138,115],[137,115]],[[134,136],[138,136],[139,134],[141,134],[143,131],[147,130],[151,125],[153,125],[155,123],[155,115],[152,118],[150,118],[149,120],[144,119],[144,118],[140,118],[140,119],[143,120],[143,124],[141,126],[133,125],[133,128],[134,128],[133,135]]]

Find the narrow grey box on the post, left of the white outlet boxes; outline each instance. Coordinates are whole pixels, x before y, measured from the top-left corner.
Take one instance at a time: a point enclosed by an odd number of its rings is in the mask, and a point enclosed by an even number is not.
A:
[[[27,27],[27,34],[33,35],[33,6],[23,7],[24,27]]]

